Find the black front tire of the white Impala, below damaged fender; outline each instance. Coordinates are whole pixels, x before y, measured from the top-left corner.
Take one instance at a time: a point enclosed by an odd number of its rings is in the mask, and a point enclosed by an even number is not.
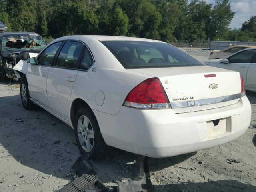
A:
[[[23,88],[26,89],[26,92],[24,92]],[[24,95],[25,95],[25,97],[24,97]],[[21,98],[22,106],[26,110],[32,110],[36,107],[36,105],[34,103],[32,103],[32,101],[29,99],[28,84],[27,84],[26,80],[20,81],[20,98]]]

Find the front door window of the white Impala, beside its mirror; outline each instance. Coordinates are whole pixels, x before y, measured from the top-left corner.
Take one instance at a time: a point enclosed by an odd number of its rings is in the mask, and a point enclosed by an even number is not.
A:
[[[44,66],[52,66],[54,62],[54,56],[58,49],[60,48],[60,45],[62,42],[57,42],[52,45],[50,45],[48,48],[46,48],[39,56],[38,58],[38,64],[44,65]]]

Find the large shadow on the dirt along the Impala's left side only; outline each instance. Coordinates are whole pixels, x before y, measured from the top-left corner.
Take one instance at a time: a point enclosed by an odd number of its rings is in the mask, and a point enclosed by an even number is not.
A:
[[[80,155],[73,130],[37,108],[23,108],[20,95],[0,98],[0,144],[24,166],[65,178]],[[4,156],[4,158],[1,158]],[[0,154],[0,160],[8,160]]]

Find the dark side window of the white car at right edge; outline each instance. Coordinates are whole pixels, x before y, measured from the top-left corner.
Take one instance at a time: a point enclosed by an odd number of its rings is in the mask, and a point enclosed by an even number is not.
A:
[[[245,50],[230,56],[228,60],[229,63],[250,63],[255,54],[256,50]]]

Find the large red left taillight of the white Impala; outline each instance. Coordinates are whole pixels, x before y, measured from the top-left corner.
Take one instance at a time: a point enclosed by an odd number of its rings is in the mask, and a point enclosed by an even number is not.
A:
[[[140,109],[170,108],[170,102],[158,78],[149,78],[130,91],[125,106]]]

